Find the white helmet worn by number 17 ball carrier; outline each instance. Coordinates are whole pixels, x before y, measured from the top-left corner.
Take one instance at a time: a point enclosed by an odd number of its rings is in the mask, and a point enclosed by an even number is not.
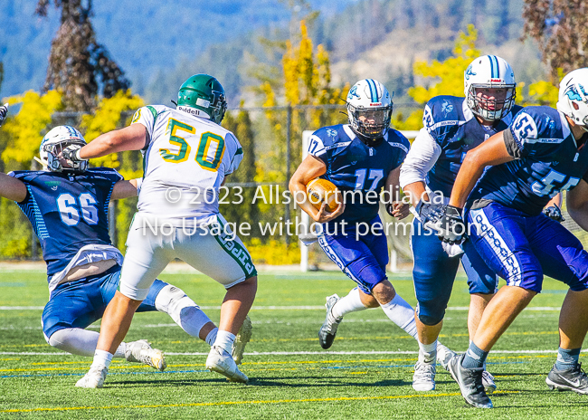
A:
[[[347,93],[347,117],[351,128],[365,138],[384,136],[392,118],[392,97],[379,81],[357,81]],[[361,118],[364,117],[364,118]]]

